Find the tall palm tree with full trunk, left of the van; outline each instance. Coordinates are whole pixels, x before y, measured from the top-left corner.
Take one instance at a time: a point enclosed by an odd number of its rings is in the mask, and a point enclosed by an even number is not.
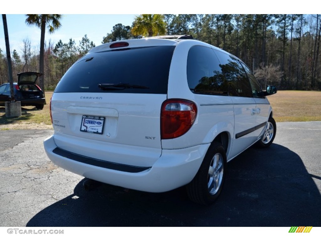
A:
[[[53,33],[55,30],[61,27],[60,19],[61,14],[26,14],[26,23],[28,25],[36,25],[41,29],[40,36],[40,61],[39,69],[40,73],[44,74],[44,48],[45,48],[45,32],[46,26],[49,33]],[[40,88],[45,93],[44,75],[40,76]]]

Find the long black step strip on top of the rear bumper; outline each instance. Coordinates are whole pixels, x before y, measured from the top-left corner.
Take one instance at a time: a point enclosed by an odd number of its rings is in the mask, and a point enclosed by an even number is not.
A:
[[[118,163],[114,163],[114,162],[108,162],[108,161],[103,161],[103,160],[87,157],[87,156],[81,156],[81,155],[60,149],[59,147],[56,147],[53,150],[53,153],[55,153],[59,156],[63,156],[68,159],[77,161],[77,162],[85,163],[88,165],[99,166],[99,167],[103,167],[103,168],[108,168],[108,169],[112,169],[112,170],[122,171],[122,172],[139,173],[139,172],[143,172],[143,171],[151,168],[151,167],[118,164]]]

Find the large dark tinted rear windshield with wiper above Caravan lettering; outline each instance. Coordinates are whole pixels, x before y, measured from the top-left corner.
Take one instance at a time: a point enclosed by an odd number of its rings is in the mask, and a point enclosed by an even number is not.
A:
[[[55,92],[167,94],[174,49],[153,46],[89,53],[70,67]],[[123,87],[102,90],[99,84]]]

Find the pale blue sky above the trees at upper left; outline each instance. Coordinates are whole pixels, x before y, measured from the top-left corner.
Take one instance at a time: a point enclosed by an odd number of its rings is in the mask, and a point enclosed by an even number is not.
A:
[[[63,14],[62,27],[52,34],[47,31],[45,39],[47,43],[51,39],[51,42],[56,44],[60,39],[63,43],[67,43],[72,38],[78,45],[82,37],[87,34],[87,37],[97,46],[117,23],[131,26],[135,15],[139,14]],[[6,18],[11,52],[16,49],[21,54],[22,40],[26,38],[30,40],[31,48],[39,49],[40,29],[36,26],[28,26],[25,23],[25,14],[6,14]],[[2,18],[0,20],[0,48],[5,52]]]

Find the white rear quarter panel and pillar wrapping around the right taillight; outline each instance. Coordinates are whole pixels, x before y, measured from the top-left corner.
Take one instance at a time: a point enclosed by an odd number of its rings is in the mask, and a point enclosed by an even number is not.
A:
[[[211,47],[197,42],[196,45]],[[187,84],[188,50],[195,41],[184,40],[178,43],[169,71],[168,99],[185,99],[197,106],[197,116],[191,129],[181,137],[162,140],[163,149],[178,149],[211,143],[223,131],[233,136],[233,103],[229,96],[194,94]],[[184,61],[183,61],[184,60]]]

